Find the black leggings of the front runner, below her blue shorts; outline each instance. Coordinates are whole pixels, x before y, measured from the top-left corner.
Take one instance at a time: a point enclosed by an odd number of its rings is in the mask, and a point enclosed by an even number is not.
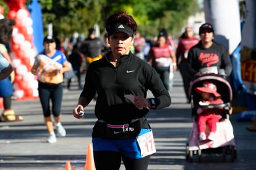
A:
[[[147,170],[150,159],[150,156],[145,156],[141,159],[131,159],[115,151],[93,151],[93,156],[96,170],[119,170],[121,159],[126,170]]]

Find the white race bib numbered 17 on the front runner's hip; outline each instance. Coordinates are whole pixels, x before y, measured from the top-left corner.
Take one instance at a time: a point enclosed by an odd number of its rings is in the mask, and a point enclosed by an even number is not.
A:
[[[140,146],[141,156],[148,156],[156,152],[155,141],[152,130],[137,137]]]

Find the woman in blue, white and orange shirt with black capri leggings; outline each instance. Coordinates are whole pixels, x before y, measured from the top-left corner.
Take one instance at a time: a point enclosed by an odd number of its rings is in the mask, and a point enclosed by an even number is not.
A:
[[[35,57],[32,74],[38,75],[38,93],[43,108],[45,124],[49,132],[49,143],[57,142],[51,120],[50,100],[52,113],[57,127],[58,135],[66,136],[66,130],[61,125],[61,102],[63,92],[63,73],[69,71],[67,58],[58,49],[53,36],[45,36],[43,40],[44,50]]]

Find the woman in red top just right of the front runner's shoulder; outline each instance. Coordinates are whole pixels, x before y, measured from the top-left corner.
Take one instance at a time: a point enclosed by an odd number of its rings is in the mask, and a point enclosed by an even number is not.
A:
[[[156,72],[164,84],[164,87],[169,90],[169,74],[170,65],[173,64],[173,70],[176,71],[176,56],[171,47],[166,43],[166,36],[160,33],[156,46],[152,46],[148,53],[147,62],[155,68]]]

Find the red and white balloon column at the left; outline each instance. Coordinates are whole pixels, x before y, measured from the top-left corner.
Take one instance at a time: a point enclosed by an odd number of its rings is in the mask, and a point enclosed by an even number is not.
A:
[[[12,66],[14,67],[14,96],[18,99],[38,98],[38,82],[32,69],[37,54],[33,45],[33,20],[25,9],[25,0],[7,1],[9,12],[7,18],[15,20],[10,40]]]

